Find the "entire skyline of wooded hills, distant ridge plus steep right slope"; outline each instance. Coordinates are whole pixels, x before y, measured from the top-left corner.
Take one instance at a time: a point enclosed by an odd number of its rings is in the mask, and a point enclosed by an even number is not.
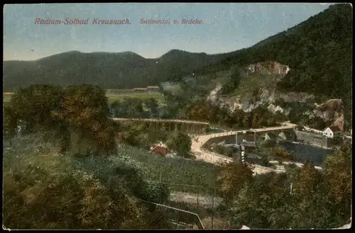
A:
[[[211,74],[235,64],[275,61],[291,69],[279,83],[281,90],[342,98],[351,106],[351,55],[352,8],[335,4],[252,47],[220,55],[171,50],[160,58],[146,59],[133,52],[72,51],[30,62],[7,61],[4,90],[35,83],[133,88],[177,80],[191,72]]]

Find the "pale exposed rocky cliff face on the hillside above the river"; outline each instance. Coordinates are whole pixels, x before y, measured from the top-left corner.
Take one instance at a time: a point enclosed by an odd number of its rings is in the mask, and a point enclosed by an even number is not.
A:
[[[285,115],[290,113],[290,108],[280,106],[279,102],[309,103],[310,106],[313,105],[314,108],[313,111],[307,112],[309,118],[317,116],[343,129],[344,110],[342,100],[329,100],[327,103],[318,105],[315,103],[315,96],[310,93],[283,93],[278,91],[276,84],[290,71],[290,67],[287,65],[278,62],[259,62],[257,64],[250,64],[244,68],[246,70],[244,79],[246,80],[251,79],[251,76],[255,74],[259,75],[259,77],[261,77],[260,79],[263,79],[263,77],[266,79],[266,76],[268,76],[267,80],[261,80],[264,81],[264,84],[258,89],[257,95],[251,95],[251,93],[247,93],[248,91],[241,91],[241,93],[234,96],[222,96],[221,91],[223,84],[217,84],[214,90],[207,96],[207,101],[218,106],[227,107],[231,111],[241,109],[249,112],[260,105],[266,105],[273,113],[279,111]]]

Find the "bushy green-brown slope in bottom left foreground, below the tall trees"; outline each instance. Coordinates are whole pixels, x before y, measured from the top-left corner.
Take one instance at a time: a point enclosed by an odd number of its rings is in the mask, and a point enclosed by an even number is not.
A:
[[[48,137],[44,137],[48,138]],[[132,159],[58,154],[28,135],[4,149],[4,226],[11,229],[164,229],[138,198],[163,203],[166,187],[143,180]]]

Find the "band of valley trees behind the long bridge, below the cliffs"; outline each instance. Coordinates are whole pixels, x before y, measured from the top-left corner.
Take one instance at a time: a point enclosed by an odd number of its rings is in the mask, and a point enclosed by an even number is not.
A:
[[[236,71],[235,75],[241,74]],[[114,101],[110,105],[112,116],[114,118],[186,119],[225,127],[255,128],[275,125],[286,119],[282,113],[271,113],[266,106],[258,106],[249,113],[239,109],[231,113],[228,108],[205,101],[202,92],[195,90],[198,85],[187,85],[187,81],[182,81],[180,86],[182,93],[173,94],[163,91],[165,104],[158,103],[154,98],[148,100],[124,98]],[[299,118],[296,121],[298,122]]]

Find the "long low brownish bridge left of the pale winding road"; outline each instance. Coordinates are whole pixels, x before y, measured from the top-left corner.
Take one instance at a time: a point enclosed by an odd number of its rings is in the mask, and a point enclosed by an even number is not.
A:
[[[204,135],[209,130],[209,123],[193,120],[168,120],[168,119],[140,119],[140,118],[113,118],[118,122],[145,123],[151,128],[160,130],[179,130],[191,135]]]

